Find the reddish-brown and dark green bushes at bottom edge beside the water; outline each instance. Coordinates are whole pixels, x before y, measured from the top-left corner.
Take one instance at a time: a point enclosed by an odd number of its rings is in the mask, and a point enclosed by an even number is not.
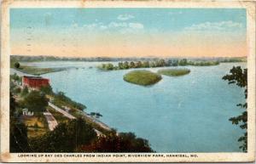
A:
[[[153,152],[148,140],[137,138],[134,133],[117,133],[112,131],[101,136],[89,145],[79,147],[82,152]]]

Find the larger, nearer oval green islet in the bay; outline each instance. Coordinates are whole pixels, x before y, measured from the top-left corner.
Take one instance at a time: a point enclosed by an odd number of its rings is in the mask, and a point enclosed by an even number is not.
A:
[[[159,82],[161,80],[161,76],[151,71],[139,70],[130,71],[125,74],[124,80],[126,82],[147,86]]]

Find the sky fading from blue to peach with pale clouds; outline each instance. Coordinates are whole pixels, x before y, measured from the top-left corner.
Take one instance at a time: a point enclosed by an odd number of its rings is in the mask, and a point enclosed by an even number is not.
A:
[[[11,8],[11,54],[247,56],[245,8]]]

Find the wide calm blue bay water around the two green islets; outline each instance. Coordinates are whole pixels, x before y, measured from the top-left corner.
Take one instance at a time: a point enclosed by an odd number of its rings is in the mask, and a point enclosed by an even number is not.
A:
[[[40,62],[39,67],[75,66],[45,74],[55,91],[100,112],[101,121],[119,132],[148,139],[157,152],[240,152],[242,130],[229,121],[241,109],[243,90],[222,76],[233,65],[185,66],[186,76],[162,76],[153,86],[125,82],[125,71],[99,71],[97,62]],[[160,68],[148,69],[157,71]]]

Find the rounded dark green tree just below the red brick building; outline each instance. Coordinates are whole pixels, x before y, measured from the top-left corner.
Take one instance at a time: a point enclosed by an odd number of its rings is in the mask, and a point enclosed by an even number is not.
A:
[[[44,111],[48,105],[48,100],[44,93],[38,91],[32,91],[28,93],[24,99],[24,105],[28,110],[32,111]]]

